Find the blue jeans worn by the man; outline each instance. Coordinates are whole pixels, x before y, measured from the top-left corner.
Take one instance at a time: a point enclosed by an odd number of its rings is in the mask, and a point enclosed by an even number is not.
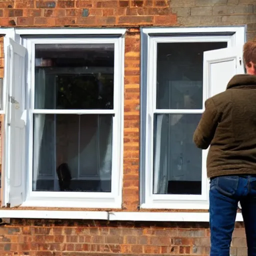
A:
[[[256,256],[256,175],[211,178],[210,256],[229,256],[238,201],[242,208],[248,256]]]

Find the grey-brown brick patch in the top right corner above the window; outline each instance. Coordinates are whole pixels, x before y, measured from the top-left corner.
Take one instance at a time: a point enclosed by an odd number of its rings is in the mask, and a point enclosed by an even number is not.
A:
[[[255,0],[171,0],[180,26],[247,25],[247,38],[256,36]]]

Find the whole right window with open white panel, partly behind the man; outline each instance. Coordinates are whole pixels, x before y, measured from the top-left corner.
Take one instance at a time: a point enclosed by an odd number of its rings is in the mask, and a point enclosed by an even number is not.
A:
[[[141,206],[208,208],[207,151],[192,136],[206,98],[243,72],[244,28],[143,28],[141,36]]]

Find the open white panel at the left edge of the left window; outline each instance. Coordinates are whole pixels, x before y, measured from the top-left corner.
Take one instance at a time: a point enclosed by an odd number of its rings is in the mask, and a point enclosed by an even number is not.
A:
[[[4,120],[2,204],[16,206],[25,198],[25,56],[26,48],[4,38],[6,115]]]

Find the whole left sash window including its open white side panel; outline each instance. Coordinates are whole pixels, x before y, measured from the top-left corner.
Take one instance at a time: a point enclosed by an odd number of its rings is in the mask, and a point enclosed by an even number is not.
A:
[[[4,203],[120,207],[124,30],[64,30],[5,38]]]

